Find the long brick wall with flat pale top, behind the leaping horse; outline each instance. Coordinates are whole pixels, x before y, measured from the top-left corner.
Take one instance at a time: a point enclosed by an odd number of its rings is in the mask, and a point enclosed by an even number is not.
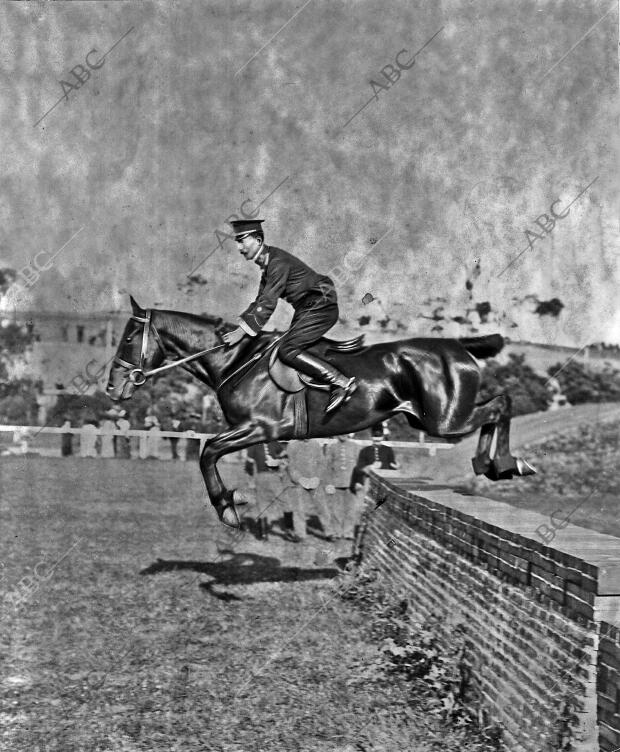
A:
[[[620,747],[620,539],[405,478],[370,497],[362,561],[444,639],[463,625],[511,752]]]

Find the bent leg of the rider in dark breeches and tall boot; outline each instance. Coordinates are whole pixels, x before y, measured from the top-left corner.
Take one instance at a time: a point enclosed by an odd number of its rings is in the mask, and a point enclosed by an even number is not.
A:
[[[290,329],[280,340],[280,359],[307,376],[332,385],[326,412],[335,410],[356,389],[355,378],[348,378],[330,363],[305,352],[338,321],[338,305],[323,303],[321,296],[309,298],[297,308]]]

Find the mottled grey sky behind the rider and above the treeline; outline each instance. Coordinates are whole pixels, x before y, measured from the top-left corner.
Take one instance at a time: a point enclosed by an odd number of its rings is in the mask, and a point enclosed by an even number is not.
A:
[[[598,1],[2,4],[0,307],[234,319],[259,276],[226,219],[259,211],[342,327],[489,302],[618,343],[617,42]]]

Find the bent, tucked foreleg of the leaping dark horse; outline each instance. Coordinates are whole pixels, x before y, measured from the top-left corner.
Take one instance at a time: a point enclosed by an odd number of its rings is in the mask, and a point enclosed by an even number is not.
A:
[[[200,471],[217,516],[229,527],[239,527],[239,515],[235,509],[233,492],[229,491],[222,482],[217,469],[217,460],[225,454],[236,452],[252,444],[260,444],[267,439],[263,426],[248,421],[231,431],[218,433],[204,445],[200,455]]]

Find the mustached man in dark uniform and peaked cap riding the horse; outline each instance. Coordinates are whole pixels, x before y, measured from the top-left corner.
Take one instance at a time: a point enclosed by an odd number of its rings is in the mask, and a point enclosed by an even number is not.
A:
[[[325,412],[350,399],[356,390],[355,377],[347,378],[332,365],[305,352],[338,321],[334,283],[317,274],[293,254],[264,242],[262,219],[231,222],[239,252],[259,266],[263,275],[256,300],[241,314],[239,326],[225,334],[227,345],[243,337],[256,337],[274,312],[279,298],[295,309],[288,331],[279,344],[280,360],[302,373],[331,385]]]

